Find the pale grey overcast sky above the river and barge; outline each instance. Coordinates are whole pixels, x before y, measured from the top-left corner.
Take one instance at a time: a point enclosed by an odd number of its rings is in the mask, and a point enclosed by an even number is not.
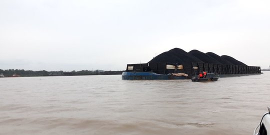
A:
[[[0,69],[124,70],[171,48],[270,64],[270,0],[0,0]]]

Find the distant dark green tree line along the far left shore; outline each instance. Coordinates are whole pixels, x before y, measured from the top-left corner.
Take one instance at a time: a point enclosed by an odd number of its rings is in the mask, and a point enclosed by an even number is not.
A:
[[[122,74],[123,71],[103,71],[103,70],[80,70],[80,71],[46,71],[46,70],[24,70],[24,69],[0,69],[0,73],[4,76],[12,76],[17,74],[20,76],[67,76],[67,75],[107,75],[107,74]]]

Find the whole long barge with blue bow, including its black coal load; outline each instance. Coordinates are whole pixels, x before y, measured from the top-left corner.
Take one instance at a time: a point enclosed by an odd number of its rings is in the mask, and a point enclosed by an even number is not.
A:
[[[233,57],[219,56],[198,50],[185,52],[173,48],[147,63],[127,64],[122,79],[190,79],[199,72],[215,73],[219,77],[260,74],[260,66],[247,66]]]

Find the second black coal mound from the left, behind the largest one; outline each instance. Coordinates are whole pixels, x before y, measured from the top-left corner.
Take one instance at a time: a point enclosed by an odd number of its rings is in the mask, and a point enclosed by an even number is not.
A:
[[[193,49],[193,50],[190,50],[188,52],[189,54],[197,57],[198,59],[200,59],[201,61],[203,61],[204,63],[216,63],[216,64],[221,64],[221,62],[219,62],[218,60],[212,58],[211,56],[201,52],[201,51],[198,51],[196,49]]]

